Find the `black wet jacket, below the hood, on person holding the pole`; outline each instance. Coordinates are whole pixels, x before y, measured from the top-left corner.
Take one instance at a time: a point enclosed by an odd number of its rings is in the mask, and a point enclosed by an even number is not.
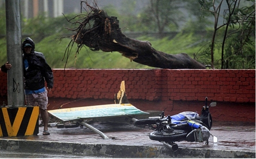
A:
[[[54,75],[51,67],[45,61],[42,53],[34,51],[33,54],[23,55],[23,61],[28,61],[28,69],[25,69],[24,65],[24,78],[25,78],[25,89],[28,90],[39,90],[45,86],[52,88],[54,86]]]

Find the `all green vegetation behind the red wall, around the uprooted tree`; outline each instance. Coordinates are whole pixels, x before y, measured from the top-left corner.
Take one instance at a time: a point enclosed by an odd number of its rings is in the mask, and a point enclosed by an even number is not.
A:
[[[186,53],[190,55],[190,57],[196,59],[198,62],[204,63],[205,65],[210,65],[213,29],[212,27],[207,28],[207,26],[212,25],[212,23],[209,22],[208,18],[202,19],[200,17],[200,13],[198,13],[195,9],[197,8],[197,1],[188,0],[186,2],[188,2],[188,4],[183,5],[182,7],[187,7],[189,9],[190,4],[191,8],[190,11],[188,11],[190,14],[190,19],[186,19],[186,23],[184,25],[185,27],[183,27],[182,31],[175,35],[174,38],[163,37],[158,39],[147,35],[144,37],[138,37],[136,39],[150,41],[154,49],[164,53]],[[249,2],[253,1],[250,0]],[[175,3],[175,5],[178,4],[179,3]],[[161,5],[161,11],[163,11],[161,13],[162,22],[164,18],[167,18],[165,16],[170,16],[173,19],[175,18],[174,20],[179,20],[182,16],[184,16],[180,10],[172,10],[169,7],[166,7],[168,6],[166,3],[161,3]],[[175,5],[172,7],[175,7]],[[148,8],[149,6],[145,6],[145,10],[138,14],[135,14],[135,6],[135,1],[127,0],[120,10],[117,10],[110,5],[105,6],[102,9],[104,9],[110,17],[117,17],[120,20],[120,27],[123,32],[159,31],[155,17]],[[237,10],[236,13],[239,13],[241,16],[247,15],[247,11],[253,11],[253,9],[254,8],[251,5],[244,5],[243,8]],[[208,16],[207,14],[203,15],[205,17]],[[65,35],[70,36],[74,34],[71,30],[66,29],[66,27],[69,29],[74,29],[77,27],[67,21],[67,19],[75,17],[75,14],[68,14],[65,16],[66,17],[60,16],[58,18],[49,18],[45,17],[44,15],[39,15],[32,19],[22,19],[22,34],[30,35],[30,37],[36,42],[36,51],[39,51],[45,55],[47,62],[52,68],[154,69],[154,67],[141,65],[133,61],[131,62],[130,59],[123,57],[118,52],[105,53],[102,51],[91,51],[87,47],[83,47],[82,50],[79,51],[79,54],[77,54],[77,57],[75,57],[77,44],[73,45],[70,55],[65,54],[66,47],[71,39],[64,38],[62,41],[60,41],[60,38]],[[72,20],[77,21],[79,18],[83,17],[78,16]],[[3,28],[0,30],[0,34],[5,35],[5,9],[0,10],[0,26]],[[166,26],[164,27],[164,31],[181,30],[181,27],[177,27],[177,23],[175,21],[166,23]],[[234,32],[235,29],[239,29],[238,25],[236,24],[234,24],[233,27],[234,30],[232,31]],[[248,30],[248,27],[252,28],[251,31]],[[200,31],[204,32],[201,33]],[[221,35],[223,34],[224,29],[219,29],[215,39],[213,55],[216,69],[221,68],[221,44],[223,43]],[[241,38],[243,39],[242,41],[240,40]],[[239,49],[241,46],[243,46],[242,49]],[[6,38],[0,38],[0,62],[5,63],[6,60]],[[254,22],[251,21],[250,23],[244,23],[244,25],[240,27],[240,31],[238,31],[238,33],[230,34],[230,36],[228,36],[224,49],[224,60],[229,69],[255,69],[255,17]]]

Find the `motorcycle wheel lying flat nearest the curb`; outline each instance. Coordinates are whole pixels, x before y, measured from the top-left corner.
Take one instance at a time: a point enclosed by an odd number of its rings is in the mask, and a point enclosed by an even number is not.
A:
[[[186,131],[184,130],[173,130],[172,132],[152,132],[150,133],[150,139],[156,141],[174,142],[174,141],[185,141]]]

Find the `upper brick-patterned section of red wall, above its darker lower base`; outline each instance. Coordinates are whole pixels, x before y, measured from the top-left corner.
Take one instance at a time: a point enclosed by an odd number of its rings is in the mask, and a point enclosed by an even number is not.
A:
[[[148,101],[255,102],[255,70],[124,70],[54,69],[49,97],[105,98],[125,81],[129,99]],[[7,95],[6,74],[0,72],[0,96]],[[65,75],[65,76],[64,76]]]

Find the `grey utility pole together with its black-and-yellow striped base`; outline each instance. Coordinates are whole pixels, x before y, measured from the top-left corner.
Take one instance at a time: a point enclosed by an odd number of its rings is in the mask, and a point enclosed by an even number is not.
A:
[[[21,49],[20,0],[5,0],[7,61],[7,106],[0,106],[0,137],[39,133],[39,106],[25,106]]]

